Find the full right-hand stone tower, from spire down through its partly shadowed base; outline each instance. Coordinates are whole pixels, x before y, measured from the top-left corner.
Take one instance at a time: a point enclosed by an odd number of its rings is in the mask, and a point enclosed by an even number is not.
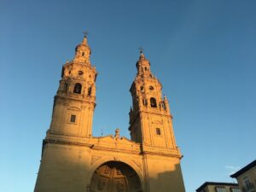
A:
[[[141,51],[137,76],[131,84],[131,141],[140,143],[146,172],[146,191],[184,192],[180,154],[172,128],[172,115],[162,84]]]

